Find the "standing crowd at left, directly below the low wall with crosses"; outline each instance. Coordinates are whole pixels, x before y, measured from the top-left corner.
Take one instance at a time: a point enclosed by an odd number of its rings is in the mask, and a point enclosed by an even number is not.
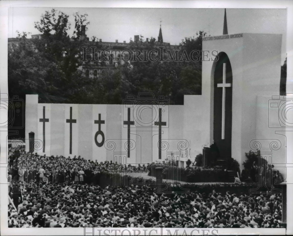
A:
[[[100,172],[149,171],[149,163],[138,166],[113,163],[112,161],[89,161],[81,156],[39,156],[22,153],[8,158],[8,179],[26,183],[45,181],[47,183],[80,182],[91,183],[93,176]]]

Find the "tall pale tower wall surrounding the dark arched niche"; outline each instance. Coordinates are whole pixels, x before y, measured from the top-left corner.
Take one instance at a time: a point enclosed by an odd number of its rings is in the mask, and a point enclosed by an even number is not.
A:
[[[245,161],[249,143],[256,137],[257,95],[278,95],[282,35],[243,33],[239,38],[203,41],[203,50],[229,57],[232,82],[231,156]],[[209,56],[212,56],[209,54]],[[202,63],[202,96],[209,101],[210,140],[213,137],[213,75],[216,62]],[[240,165],[242,168],[242,165]]]

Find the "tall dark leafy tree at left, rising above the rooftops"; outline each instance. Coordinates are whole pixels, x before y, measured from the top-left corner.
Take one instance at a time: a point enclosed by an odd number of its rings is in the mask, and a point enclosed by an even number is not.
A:
[[[69,38],[68,17],[52,9],[35,22],[41,38],[27,39],[28,33],[18,33],[17,43],[8,49],[9,97],[18,95],[25,101],[26,94],[38,94],[39,102],[91,102],[92,81],[80,70],[83,41]],[[75,28],[80,28],[80,22],[86,22],[85,15],[76,19]],[[77,29],[76,32],[78,35]],[[19,136],[24,137],[24,129],[19,130]]]

